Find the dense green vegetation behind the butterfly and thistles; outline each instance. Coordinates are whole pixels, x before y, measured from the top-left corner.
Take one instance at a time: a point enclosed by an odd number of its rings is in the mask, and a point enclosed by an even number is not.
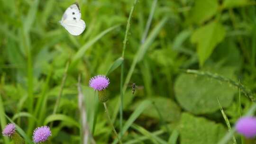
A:
[[[58,22],[73,2],[0,0],[1,128],[11,120],[31,139],[35,127],[52,124],[52,144],[78,144],[81,74],[95,141],[117,143],[103,105],[88,87],[92,76],[106,74],[114,62],[123,62],[124,90],[127,87],[121,128],[120,67],[108,73],[107,105],[125,144],[217,144],[228,132],[220,106],[233,126],[252,105],[229,82],[198,72],[218,73],[256,90],[254,0],[138,0],[124,60],[120,57],[134,1],[77,0],[86,22],[81,36],[70,35]],[[186,69],[198,71],[189,74]],[[129,84],[133,82],[134,95]],[[240,136],[236,138],[241,144]],[[0,143],[8,142],[0,137]]]

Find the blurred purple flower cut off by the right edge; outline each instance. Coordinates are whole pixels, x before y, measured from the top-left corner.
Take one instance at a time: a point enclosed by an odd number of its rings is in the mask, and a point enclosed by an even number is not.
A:
[[[241,117],[236,124],[239,134],[252,138],[256,135],[256,117]]]

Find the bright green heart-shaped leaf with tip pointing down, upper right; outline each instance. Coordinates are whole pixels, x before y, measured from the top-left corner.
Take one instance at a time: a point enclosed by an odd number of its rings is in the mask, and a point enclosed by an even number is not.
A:
[[[191,41],[197,44],[197,54],[201,66],[210,57],[216,45],[224,39],[225,35],[225,28],[216,21],[195,30]]]

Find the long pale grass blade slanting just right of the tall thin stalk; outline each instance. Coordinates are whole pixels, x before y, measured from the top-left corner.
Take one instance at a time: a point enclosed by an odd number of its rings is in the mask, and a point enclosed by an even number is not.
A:
[[[162,18],[162,20],[155,26],[155,28],[150,33],[150,35],[146,38],[145,43],[138,48],[137,54],[133,58],[132,65],[131,65],[131,67],[129,69],[129,72],[126,76],[126,80],[125,80],[125,83],[124,83],[124,86],[123,86],[123,93],[125,93],[125,91],[127,89],[128,83],[131,79],[132,73],[135,69],[135,66],[136,66],[137,62],[142,60],[142,58],[144,57],[144,54],[146,53],[146,50],[153,43],[153,41],[155,40],[155,37],[158,35],[159,31],[165,25],[167,20],[168,20],[168,17]]]

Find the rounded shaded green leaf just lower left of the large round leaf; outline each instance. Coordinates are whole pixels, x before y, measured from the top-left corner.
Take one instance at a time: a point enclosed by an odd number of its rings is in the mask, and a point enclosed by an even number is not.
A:
[[[155,106],[152,104],[147,107],[143,115],[156,119],[161,119],[162,117],[164,121],[176,121],[179,119],[181,109],[172,99],[157,96],[150,100],[155,103]],[[139,103],[140,101],[135,103],[133,109],[137,108]],[[159,116],[158,111],[161,116]]]

